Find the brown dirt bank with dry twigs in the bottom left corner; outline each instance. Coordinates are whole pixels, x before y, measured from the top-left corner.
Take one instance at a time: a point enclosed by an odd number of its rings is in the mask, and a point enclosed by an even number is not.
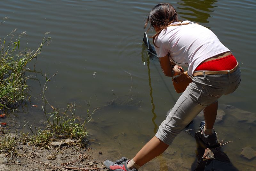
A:
[[[18,155],[0,155],[0,171],[108,170],[101,152],[90,146],[82,149],[67,145],[41,149],[20,143],[18,148]]]

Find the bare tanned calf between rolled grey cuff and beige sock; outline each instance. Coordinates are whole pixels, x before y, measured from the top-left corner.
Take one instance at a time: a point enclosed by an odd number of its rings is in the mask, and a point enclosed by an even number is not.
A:
[[[146,145],[144,145],[144,147],[142,147],[133,160],[137,165],[143,166],[148,161],[162,154],[168,146],[169,145],[154,136]]]

